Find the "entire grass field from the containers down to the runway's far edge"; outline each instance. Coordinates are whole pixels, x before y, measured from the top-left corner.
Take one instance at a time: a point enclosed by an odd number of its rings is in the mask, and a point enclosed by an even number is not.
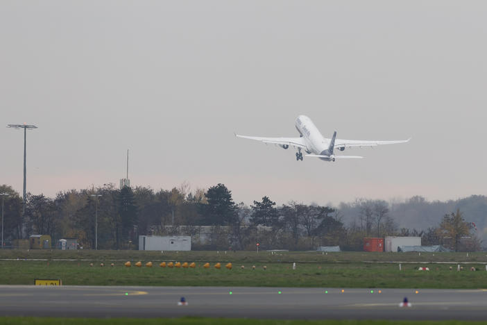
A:
[[[35,278],[61,278],[64,285],[212,285],[322,288],[487,288],[484,253],[328,253],[189,251],[3,251],[0,284],[33,284]],[[17,260],[19,258],[19,260]],[[45,260],[24,260],[45,259]],[[63,260],[60,260],[63,259]],[[70,260],[67,260],[70,259]],[[124,267],[131,260],[153,267]],[[161,261],[196,262],[195,269],[159,267]],[[99,264],[103,261],[105,267]],[[368,261],[367,263],[362,261]],[[212,267],[204,269],[203,263]],[[222,269],[214,269],[216,262]],[[233,263],[233,269],[224,265]],[[297,263],[296,270],[292,263]],[[379,262],[379,263],[373,263]],[[399,270],[399,262],[403,263]],[[443,264],[438,262],[452,262]],[[90,267],[89,264],[94,266]],[[114,267],[110,267],[114,263]],[[456,263],[464,263],[456,272]],[[472,264],[465,264],[472,263]],[[240,266],[245,265],[245,269]],[[255,265],[256,269],[251,267]],[[267,269],[264,270],[263,266]],[[418,271],[419,266],[430,272]],[[449,267],[454,268],[450,271]],[[470,267],[479,269],[470,272]]]

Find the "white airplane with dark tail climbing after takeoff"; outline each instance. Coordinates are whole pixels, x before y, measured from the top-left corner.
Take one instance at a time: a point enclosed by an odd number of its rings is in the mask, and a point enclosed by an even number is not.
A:
[[[345,148],[376,147],[379,144],[396,144],[409,142],[409,140],[411,140],[411,138],[407,140],[393,141],[341,140],[336,139],[336,131],[334,131],[332,138],[328,139],[324,138],[323,135],[321,135],[320,131],[318,131],[318,128],[316,128],[311,119],[305,115],[298,116],[295,122],[295,126],[300,134],[299,138],[262,138],[238,134],[235,134],[235,136],[237,138],[261,141],[265,144],[276,144],[282,149],[295,147],[298,149],[298,152],[296,153],[296,160],[302,160],[301,150],[304,150],[307,153],[307,155],[305,156],[320,158],[324,161],[335,161],[336,159],[345,158],[364,158],[361,156],[335,156],[334,149],[343,151],[345,150]]]

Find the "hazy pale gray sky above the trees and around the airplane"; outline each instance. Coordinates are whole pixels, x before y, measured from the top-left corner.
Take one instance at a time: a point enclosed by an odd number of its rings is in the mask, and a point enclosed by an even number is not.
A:
[[[484,1],[1,1],[1,123],[28,132],[27,189],[224,183],[235,201],[486,194]],[[234,138],[408,144],[297,162]],[[22,192],[22,131],[0,128]]]

